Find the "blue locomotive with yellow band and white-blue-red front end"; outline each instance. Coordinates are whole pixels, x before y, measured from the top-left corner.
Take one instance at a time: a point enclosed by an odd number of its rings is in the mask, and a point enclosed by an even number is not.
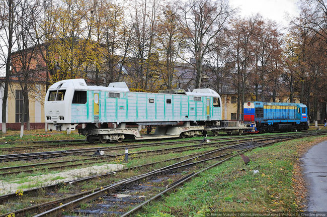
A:
[[[302,103],[249,101],[244,121],[255,121],[259,132],[307,130],[307,107]]]

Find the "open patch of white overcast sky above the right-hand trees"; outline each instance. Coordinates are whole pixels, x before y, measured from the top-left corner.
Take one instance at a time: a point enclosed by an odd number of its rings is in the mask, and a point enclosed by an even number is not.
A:
[[[229,0],[232,8],[238,8],[241,17],[261,14],[264,18],[276,21],[281,27],[287,27],[287,17],[299,14],[297,0]]]

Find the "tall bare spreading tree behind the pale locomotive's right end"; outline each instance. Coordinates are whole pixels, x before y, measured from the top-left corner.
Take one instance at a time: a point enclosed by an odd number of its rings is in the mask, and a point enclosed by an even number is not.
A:
[[[195,58],[195,63],[188,63],[196,69],[196,88],[199,88],[202,82],[203,59],[209,52],[210,44],[214,43],[215,36],[224,29],[231,10],[223,0],[190,0],[180,10],[180,23],[188,41],[187,49]]]

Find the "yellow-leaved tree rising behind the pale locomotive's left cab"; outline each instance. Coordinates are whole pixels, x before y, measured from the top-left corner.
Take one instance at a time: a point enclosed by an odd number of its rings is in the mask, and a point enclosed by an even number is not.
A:
[[[89,12],[85,0],[63,0],[52,11],[55,32],[49,46],[50,69],[55,71],[52,81],[86,77],[88,62],[98,57],[98,46],[91,40],[85,40],[86,17]]]

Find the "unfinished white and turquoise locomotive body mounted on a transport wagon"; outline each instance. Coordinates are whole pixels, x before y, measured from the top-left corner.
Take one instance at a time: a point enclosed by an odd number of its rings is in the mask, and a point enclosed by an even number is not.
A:
[[[185,137],[201,134],[204,126],[220,125],[221,98],[208,88],[130,92],[125,82],[104,87],[87,85],[85,79],[70,79],[50,86],[44,110],[49,130],[71,131],[84,124],[79,132],[89,142],[142,138],[135,128],[126,127],[132,125],[156,125],[156,135]],[[109,128],[109,123],[116,128]]]

